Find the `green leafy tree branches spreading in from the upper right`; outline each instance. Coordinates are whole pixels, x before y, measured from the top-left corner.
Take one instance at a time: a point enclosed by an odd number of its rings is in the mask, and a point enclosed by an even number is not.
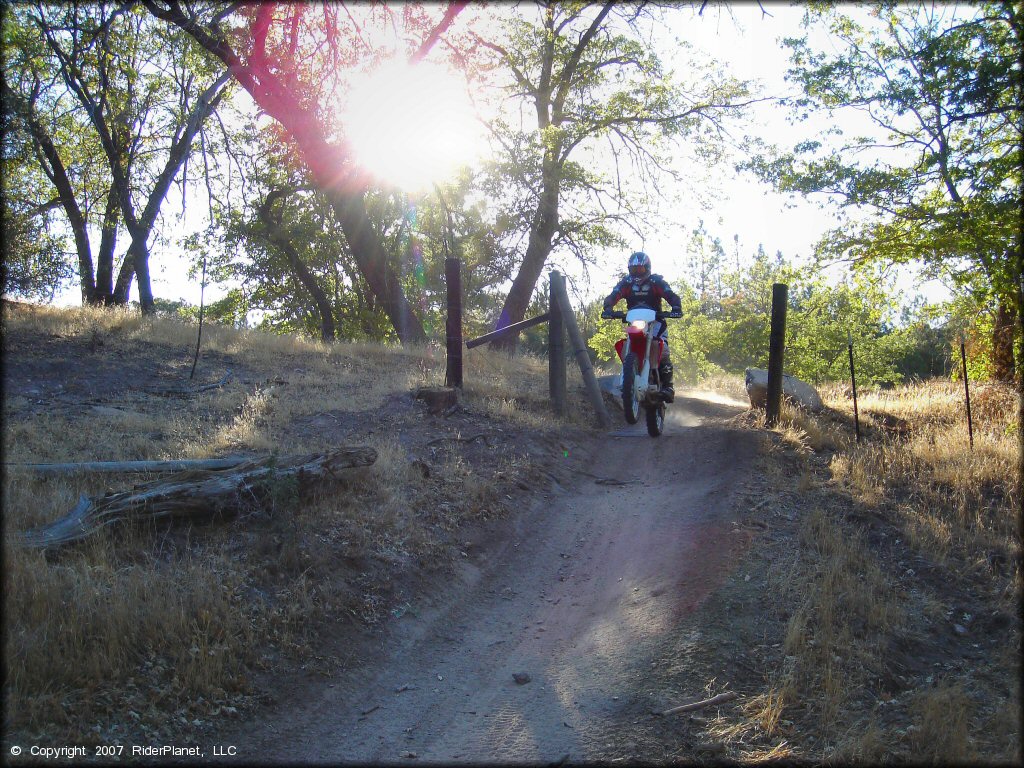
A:
[[[866,115],[874,135],[802,142],[749,167],[779,189],[827,194],[852,214],[818,245],[821,259],[923,263],[980,300],[977,317],[997,308],[1020,316],[1024,11],[994,2],[868,11],[810,11],[809,26],[829,35],[828,51],[807,37],[785,42],[788,77],[803,90],[795,114],[827,112],[840,125],[846,113]],[[998,338],[1012,345],[1012,332]]]

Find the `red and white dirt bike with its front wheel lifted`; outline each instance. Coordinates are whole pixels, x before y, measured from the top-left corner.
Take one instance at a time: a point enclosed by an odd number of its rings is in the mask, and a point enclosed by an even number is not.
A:
[[[665,340],[655,337],[654,332],[660,321],[679,315],[634,307],[628,312],[602,312],[601,316],[621,319],[627,326],[626,338],[615,342],[615,352],[623,361],[623,412],[626,422],[636,424],[640,421],[640,410],[643,409],[647,434],[657,437],[665,429],[666,403],[657,373]]]

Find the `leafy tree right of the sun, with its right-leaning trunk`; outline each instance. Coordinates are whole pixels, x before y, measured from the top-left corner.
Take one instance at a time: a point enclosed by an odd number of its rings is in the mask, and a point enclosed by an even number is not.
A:
[[[735,117],[746,86],[713,61],[667,71],[650,44],[657,16],[629,4],[541,4],[509,14],[486,45],[514,99],[492,122],[503,147],[492,191],[525,245],[506,304],[513,312],[550,254],[590,264],[598,250],[625,248],[636,222],[655,215],[658,184],[678,178],[677,163],[722,155],[722,133],[701,127]],[[524,124],[525,114],[536,121]]]

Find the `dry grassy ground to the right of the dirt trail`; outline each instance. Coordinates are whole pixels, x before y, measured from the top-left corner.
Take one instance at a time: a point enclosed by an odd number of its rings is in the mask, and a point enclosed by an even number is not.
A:
[[[974,390],[974,451],[962,385],[864,393],[859,443],[849,393],[822,395],[830,412],[783,409],[775,428],[804,467],[790,482],[808,504],[778,600],[790,616],[785,659],[734,727],[792,744],[779,724],[796,721],[816,744],[798,755],[826,762],[1019,761],[1017,394]],[[815,466],[827,472],[808,479]],[[954,623],[980,614],[1007,626],[962,627],[965,639],[947,639],[958,637]],[[908,664],[900,647],[915,648],[908,652],[931,674],[895,674]]]

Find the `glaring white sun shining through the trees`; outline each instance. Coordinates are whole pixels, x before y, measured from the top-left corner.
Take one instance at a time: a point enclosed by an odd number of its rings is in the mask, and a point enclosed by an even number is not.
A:
[[[464,85],[435,65],[383,63],[352,84],[341,113],[356,163],[404,191],[444,180],[482,145]]]

